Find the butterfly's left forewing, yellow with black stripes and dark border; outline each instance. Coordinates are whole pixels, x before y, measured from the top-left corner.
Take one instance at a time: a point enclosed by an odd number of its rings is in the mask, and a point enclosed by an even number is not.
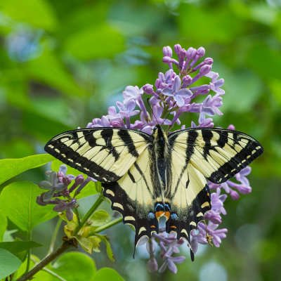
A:
[[[46,152],[101,182],[117,181],[151,142],[147,133],[123,128],[77,129],[48,141]]]

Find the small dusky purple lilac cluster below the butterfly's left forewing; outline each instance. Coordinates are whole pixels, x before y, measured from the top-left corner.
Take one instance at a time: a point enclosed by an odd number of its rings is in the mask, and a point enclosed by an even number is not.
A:
[[[88,177],[84,179],[83,175],[73,176],[71,174],[66,174],[67,166],[60,165],[59,171],[46,171],[46,175],[49,177],[49,181],[40,181],[38,183],[39,188],[48,190],[37,196],[37,204],[40,206],[46,206],[48,204],[54,204],[53,211],[66,212],[67,220],[72,221],[73,212],[72,209],[77,207],[76,197],[86,186],[87,183],[93,180],[93,178]],[[71,185],[72,181],[74,183]],[[71,185],[71,186],[70,186]],[[74,195],[72,193],[73,191]],[[63,197],[64,199],[61,199]]]

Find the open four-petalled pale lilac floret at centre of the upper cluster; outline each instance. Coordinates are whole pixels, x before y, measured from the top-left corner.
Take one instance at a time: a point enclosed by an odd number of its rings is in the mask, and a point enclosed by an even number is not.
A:
[[[174,84],[172,88],[165,88],[162,93],[166,96],[171,96],[174,98],[178,107],[185,104],[184,98],[190,98],[192,92],[189,89],[181,89],[181,78],[177,75],[174,79]]]

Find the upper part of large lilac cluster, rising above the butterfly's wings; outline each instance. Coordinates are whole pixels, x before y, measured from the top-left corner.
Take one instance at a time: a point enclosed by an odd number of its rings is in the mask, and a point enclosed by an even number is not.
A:
[[[201,63],[205,50],[200,47],[188,48],[185,51],[179,44],[174,46],[174,51],[178,55],[178,60],[171,58],[173,52],[171,47],[163,48],[163,62],[169,65],[166,73],[159,72],[155,81],[155,86],[145,84],[141,89],[138,86],[127,86],[123,92],[123,103],[117,102],[115,106],[108,108],[108,115],[101,119],[93,119],[87,125],[87,128],[117,126],[127,129],[137,129],[146,133],[152,133],[156,124],[168,125],[168,131],[174,124],[181,124],[179,117],[183,112],[199,113],[199,126],[214,126],[211,118],[215,114],[222,115],[218,109],[222,105],[221,96],[224,95],[223,79],[218,79],[218,73],[212,72],[212,58],[205,58]],[[176,65],[178,73],[174,72],[173,65]],[[210,80],[209,84],[199,85],[200,79]],[[209,93],[214,92],[214,96]],[[146,110],[143,102],[143,94],[150,96],[152,113]],[[197,103],[197,96],[206,96],[206,98]],[[135,108],[138,107],[138,110]],[[167,114],[171,118],[165,118]],[[131,117],[139,115],[138,120],[131,122]],[[196,126],[194,123],[192,126]],[[185,127],[183,127],[185,128]]]

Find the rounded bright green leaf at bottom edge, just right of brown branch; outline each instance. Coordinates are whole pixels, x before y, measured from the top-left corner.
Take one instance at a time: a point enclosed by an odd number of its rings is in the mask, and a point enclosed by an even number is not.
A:
[[[90,280],[96,273],[96,265],[88,255],[72,251],[60,256],[51,270],[67,281]]]

